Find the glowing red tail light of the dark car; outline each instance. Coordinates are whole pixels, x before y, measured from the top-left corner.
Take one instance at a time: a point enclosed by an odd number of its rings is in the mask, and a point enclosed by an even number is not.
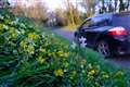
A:
[[[120,36],[120,35],[127,35],[127,30],[123,27],[114,27],[108,30],[108,35],[112,36]]]

